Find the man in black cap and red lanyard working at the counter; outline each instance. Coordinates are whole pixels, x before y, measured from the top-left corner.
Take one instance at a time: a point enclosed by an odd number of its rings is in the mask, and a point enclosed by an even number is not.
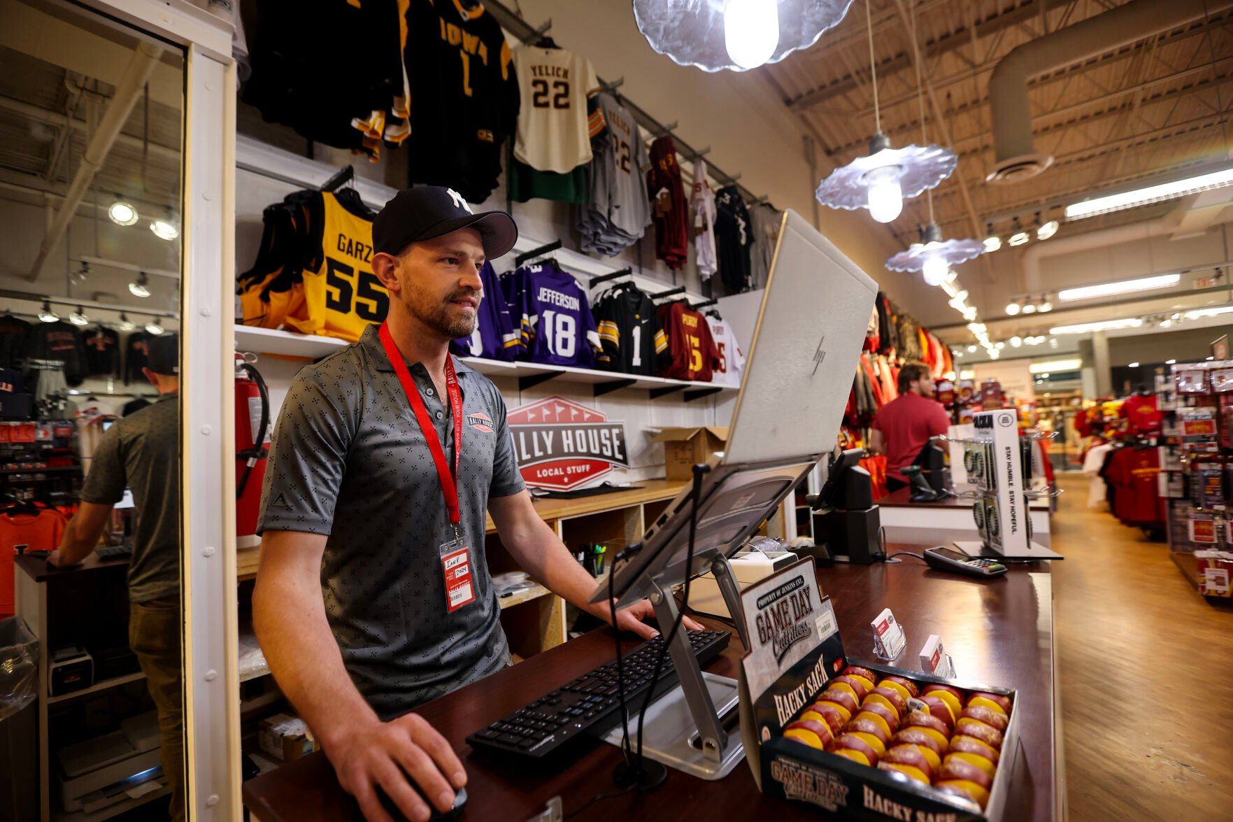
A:
[[[254,627],[370,820],[390,818],[376,787],[428,820],[408,775],[441,811],[466,783],[449,743],[408,711],[508,664],[485,512],[533,578],[613,621],[587,604],[594,580],[531,506],[497,388],[449,355],[475,330],[480,268],[517,236],[509,215],[472,214],[453,190],[399,191],[372,225],[386,323],[302,369],[275,428]],[[650,638],[651,615],[641,602],[615,621]]]

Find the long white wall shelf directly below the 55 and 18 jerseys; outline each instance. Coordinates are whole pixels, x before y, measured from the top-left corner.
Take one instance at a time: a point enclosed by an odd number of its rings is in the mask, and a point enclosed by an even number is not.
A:
[[[236,326],[236,348],[238,351],[248,351],[258,354],[280,354],[282,357],[318,359],[338,351],[343,346],[346,346],[346,342],[333,337],[297,334],[290,331],[255,328],[253,326]],[[624,386],[629,389],[735,391],[739,388],[736,385],[699,383],[697,380],[670,380],[662,376],[636,376],[634,374],[620,374],[618,372],[600,372],[593,368],[571,368],[567,365],[544,365],[540,363],[522,362],[507,363],[497,359],[482,359],[480,357],[462,357],[461,359],[467,365],[487,376],[534,378],[552,375],[552,380],[582,385],[607,385],[610,383],[634,380],[629,385]]]

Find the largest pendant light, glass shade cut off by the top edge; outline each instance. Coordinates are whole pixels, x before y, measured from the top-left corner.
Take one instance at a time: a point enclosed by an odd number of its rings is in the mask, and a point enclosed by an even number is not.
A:
[[[704,72],[746,72],[809,48],[853,0],[634,0],[634,21],[660,54]]]

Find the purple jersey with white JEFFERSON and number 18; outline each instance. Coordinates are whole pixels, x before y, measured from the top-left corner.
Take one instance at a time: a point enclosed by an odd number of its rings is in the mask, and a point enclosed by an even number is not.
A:
[[[549,263],[519,269],[514,283],[522,294],[526,359],[545,365],[594,365],[599,333],[578,281]]]

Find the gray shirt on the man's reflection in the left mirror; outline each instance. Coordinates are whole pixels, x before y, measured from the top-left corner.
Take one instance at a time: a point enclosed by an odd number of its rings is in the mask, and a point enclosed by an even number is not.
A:
[[[128,601],[180,596],[180,395],[164,394],[116,420],[95,446],[84,502],[115,505],[133,492]]]

